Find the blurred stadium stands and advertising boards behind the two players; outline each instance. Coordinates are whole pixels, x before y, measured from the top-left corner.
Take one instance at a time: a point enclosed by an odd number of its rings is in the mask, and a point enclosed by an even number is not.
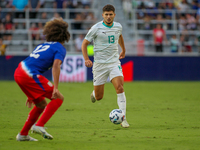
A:
[[[80,45],[88,29],[102,20],[106,4],[115,6],[115,21],[123,26],[126,81],[200,80],[199,0],[1,0],[0,80],[13,79],[17,64],[44,42],[45,22],[56,17],[69,23],[71,33],[71,40],[65,43],[69,57],[63,81],[91,80]],[[156,52],[153,38],[157,24],[166,33],[161,52]]]

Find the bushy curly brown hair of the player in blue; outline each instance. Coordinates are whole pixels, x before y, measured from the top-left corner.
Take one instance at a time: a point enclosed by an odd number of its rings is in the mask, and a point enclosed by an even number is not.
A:
[[[68,23],[60,19],[53,19],[48,21],[44,26],[43,34],[47,42],[60,42],[69,41],[70,33],[68,32]]]

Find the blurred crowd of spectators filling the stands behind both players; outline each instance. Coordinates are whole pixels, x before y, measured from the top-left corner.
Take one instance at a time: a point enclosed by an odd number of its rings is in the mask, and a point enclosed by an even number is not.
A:
[[[93,12],[72,11],[66,16],[66,9],[90,9],[93,0],[4,0],[0,1],[0,38],[4,41],[12,40],[12,33],[16,29],[27,29],[25,23],[17,22],[17,19],[26,17],[25,10],[29,9],[29,18],[40,19],[43,21],[30,21],[29,31],[31,39],[44,40],[42,35],[45,20],[62,17],[71,19],[72,30],[84,30],[91,27],[93,23],[85,25],[84,21],[96,21]],[[47,5],[48,4],[48,5]],[[168,43],[181,43],[182,51],[191,52],[192,44],[199,46],[200,35],[196,31],[200,29],[200,0],[122,0],[122,6],[129,20],[133,19],[132,10],[136,10],[138,20],[137,30],[153,31],[157,24],[162,25],[162,29],[167,31],[178,31],[178,35],[166,34]],[[8,8],[11,11],[1,11]],[[39,11],[41,8],[54,9],[54,13]],[[14,10],[14,11],[12,11]],[[60,11],[61,10],[61,11]],[[187,11],[186,11],[187,10]],[[174,15],[175,14],[175,15]],[[174,20],[176,23],[174,23]],[[80,40],[80,35],[73,36],[75,41]],[[143,35],[144,40],[148,41],[151,37],[148,34]],[[184,44],[186,43],[186,44]],[[172,44],[173,46],[173,44]],[[76,51],[78,45],[75,45]]]

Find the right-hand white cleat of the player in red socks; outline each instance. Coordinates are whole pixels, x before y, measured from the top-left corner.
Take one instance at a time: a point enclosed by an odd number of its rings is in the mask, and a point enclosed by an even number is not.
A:
[[[42,137],[45,139],[48,139],[48,140],[53,139],[53,136],[51,134],[47,133],[47,131],[44,129],[44,127],[33,125],[31,127],[31,131],[32,131],[32,133],[37,133],[37,134],[42,135]]]

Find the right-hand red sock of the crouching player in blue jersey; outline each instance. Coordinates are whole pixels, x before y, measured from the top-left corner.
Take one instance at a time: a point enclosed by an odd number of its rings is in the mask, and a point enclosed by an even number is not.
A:
[[[53,114],[62,105],[62,103],[63,101],[61,99],[51,100],[51,102],[44,109],[44,112],[42,116],[40,117],[40,119],[38,120],[38,122],[36,123],[36,126],[44,127],[44,125],[53,116]]]

